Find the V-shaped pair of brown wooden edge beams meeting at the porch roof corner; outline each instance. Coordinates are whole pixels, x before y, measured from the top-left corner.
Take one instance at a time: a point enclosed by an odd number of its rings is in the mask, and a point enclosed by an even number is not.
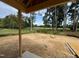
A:
[[[45,2],[29,7],[27,7],[27,4],[25,5],[21,0],[1,0],[1,1],[21,10],[22,12],[30,13],[50,6],[55,6],[61,3],[65,3],[68,2],[69,0],[47,0]],[[32,0],[29,0],[28,3],[33,3],[31,1]]]

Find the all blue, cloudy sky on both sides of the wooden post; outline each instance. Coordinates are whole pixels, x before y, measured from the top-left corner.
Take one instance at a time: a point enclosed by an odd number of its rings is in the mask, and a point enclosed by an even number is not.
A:
[[[5,16],[7,15],[10,15],[10,14],[13,14],[13,15],[17,15],[17,9],[3,3],[0,1],[0,18],[4,18]],[[36,21],[34,24],[37,24],[37,25],[43,25],[43,16],[46,12],[46,9],[43,9],[43,10],[39,10],[39,11],[36,11],[37,15],[36,15]],[[41,14],[41,15],[38,15]],[[25,13],[22,13],[24,16],[28,16],[29,17],[29,14],[25,14]]]

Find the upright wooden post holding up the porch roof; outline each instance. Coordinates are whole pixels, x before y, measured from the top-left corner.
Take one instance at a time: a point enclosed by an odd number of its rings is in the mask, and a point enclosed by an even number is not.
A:
[[[18,10],[18,22],[19,22],[19,57],[22,57],[21,11],[20,10]]]

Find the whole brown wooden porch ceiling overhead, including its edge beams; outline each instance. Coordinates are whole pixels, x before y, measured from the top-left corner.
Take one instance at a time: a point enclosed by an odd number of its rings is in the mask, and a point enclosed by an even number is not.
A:
[[[57,4],[65,3],[69,0],[1,0],[22,12],[33,12]]]

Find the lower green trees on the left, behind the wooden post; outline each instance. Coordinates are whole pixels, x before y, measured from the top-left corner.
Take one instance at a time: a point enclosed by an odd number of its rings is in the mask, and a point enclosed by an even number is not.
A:
[[[22,28],[30,27],[34,22],[34,13],[31,14],[31,17],[22,16],[21,26]],[[19,27],[18,23],[19,19],[17,15],[8,15],[4,18],[0,19],[0,28],[10,28],[17,29]]]

